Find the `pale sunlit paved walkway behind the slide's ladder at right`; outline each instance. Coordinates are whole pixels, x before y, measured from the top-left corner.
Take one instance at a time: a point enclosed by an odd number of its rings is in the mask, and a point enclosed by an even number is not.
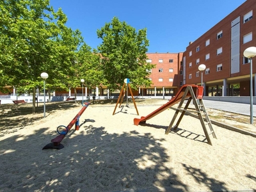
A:
[[[219,109],[250,116],[250,104],[225,102],[217,100],[204,100],[205,108]],[[253,116],[256,117],[256,105],[253,105]]]

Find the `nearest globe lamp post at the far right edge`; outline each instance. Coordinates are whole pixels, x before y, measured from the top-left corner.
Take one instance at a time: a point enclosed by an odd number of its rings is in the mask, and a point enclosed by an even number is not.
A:
[[[252,58],[256,55],[256,47],[244,50],[244,57],[250,58],[250,124],[253,124],[253,86],[252,86]]]

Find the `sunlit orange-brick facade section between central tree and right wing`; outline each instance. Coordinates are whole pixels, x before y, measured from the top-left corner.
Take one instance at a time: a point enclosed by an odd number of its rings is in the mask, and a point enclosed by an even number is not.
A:
[[[143,90],[147,96],[173,96],[179,90],[182,82],[182,56],[183,53],[147,53],[148,60],[156,64],[156,68],[150,71],[152,84]]]

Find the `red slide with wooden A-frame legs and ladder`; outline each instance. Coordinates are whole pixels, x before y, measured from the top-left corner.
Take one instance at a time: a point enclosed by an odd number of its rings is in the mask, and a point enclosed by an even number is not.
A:
[[[166,129],[165,134],[168,134],[172,128],[173,130],[177,129],[177,127],[180,124],[180,121],[182,120],[182,117],[186,112],[197,113],[198,118],[202,124],[202,128],[204,130],[205,138],[208,144],[212,145],[210,135],[212,134],[213,138],[217,138],[217,137],[212,128],[211,120],[204,106],[203,93],[204,93],[203,86],[197,86],[194,84],[191,84],[191,85],[185,84],[180,88],[179,92],[175,95],[175,97],[173,97],[173,99],[171,99],[169,102],[161,106],[159,109],[157,109],[156,111],[153,111],[147,116],[141,116],[141,118],[134,118],[134,125],[145,123],[148,119],[158,115],[162,111],[170,108],[171,106],[179,102],[179,106],[176,109],[175,114],[173,115],[172,121],[170,122],[168,129]],[[186,105],[184,106],[184,108],[182,108],[182,104],[184,104],[185,100],[187,100]],[[189,104],[192,100],[195,106],[195,110],[188,109]],[[177,120],[176,124],[173,126],[179,112],[181,112],[180,117]],[[209,127],[209,131],[207,131],[207,126]]]

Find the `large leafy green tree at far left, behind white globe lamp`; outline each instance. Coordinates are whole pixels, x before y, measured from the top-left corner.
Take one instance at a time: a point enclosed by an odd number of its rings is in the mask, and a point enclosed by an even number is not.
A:
[[[67,28],[62,10],[54,12],[49,0],[9,0],[0,3],[0,89],[6,85],[34,93],[42,87],[67,89],[73,77],[77,51],[83,38]]]

